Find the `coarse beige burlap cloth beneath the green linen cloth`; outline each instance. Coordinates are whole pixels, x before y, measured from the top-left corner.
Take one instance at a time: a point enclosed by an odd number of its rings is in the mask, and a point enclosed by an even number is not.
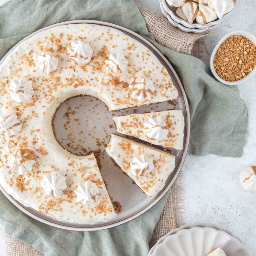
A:
[[[149,32],[156,41],[177,52],[193,55],[200,58],[200,48],[202,47],[202,37],[207,33],[194,34],[186,33],[170,25],[163,15],[152,10],[139,7],[145,19]],[[157,222],[150,242],[150,248],[159,238],[166,235],[170,230],[179,227],[184,221],[182,172],[171,187],[168,200],[163,212]],[[6,256],[43,256],[31,245],[17,240],[4,233]]]

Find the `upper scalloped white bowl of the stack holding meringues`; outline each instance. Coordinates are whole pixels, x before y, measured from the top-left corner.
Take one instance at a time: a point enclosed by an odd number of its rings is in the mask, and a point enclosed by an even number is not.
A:
[[[236,8],[236,5],[238,3],[239,0],[234,0],[235,2],[235,7],[228,12],[227,14],[225,14],[221,19],[216,19],[212,22],[209,22],[207,24],[198,24],[198,23],[189,23],[186,20],[180,18],[179,16],[176,15],[176,7],[170,7],[167,3],[166,0],[160,0],[162,2],[163,8],[165,9],[165,11],[170,15],[170,17],[172,18],[172,20],[174,20],[177,23],[182,24],[184,27],[187,28],[196,28],[196,29],[205,29],[205,28],[210,28],[211,26],[215,26],[217,27],[218,25],[220,25],[221,22],[223,22],[232,12],[233,10]],[[212,29],[212,28],[211,28]]]

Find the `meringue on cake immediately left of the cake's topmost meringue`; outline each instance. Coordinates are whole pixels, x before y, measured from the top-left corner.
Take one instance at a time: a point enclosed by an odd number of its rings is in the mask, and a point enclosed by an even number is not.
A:
[[[58,57],[53,52],[44,51],[38,54],[38,61],[36,65],[42,72],[49,75],[52,71],[57,69],[58,64]]]

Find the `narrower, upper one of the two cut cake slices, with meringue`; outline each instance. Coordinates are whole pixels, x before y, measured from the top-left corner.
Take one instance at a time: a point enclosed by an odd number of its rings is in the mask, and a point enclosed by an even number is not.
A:
[[[113,120],[119,133],[154,145],[183,149],[184,117],[181,110],[116,116]]]

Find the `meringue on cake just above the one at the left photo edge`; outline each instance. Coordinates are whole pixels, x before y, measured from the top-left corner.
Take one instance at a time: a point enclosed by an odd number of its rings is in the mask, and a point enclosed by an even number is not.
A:
[[[34,95],[32,81],[27,80],[25,77],[20,80],[12,80],[9,93],[12,99],[18,103],[28,101]]]

